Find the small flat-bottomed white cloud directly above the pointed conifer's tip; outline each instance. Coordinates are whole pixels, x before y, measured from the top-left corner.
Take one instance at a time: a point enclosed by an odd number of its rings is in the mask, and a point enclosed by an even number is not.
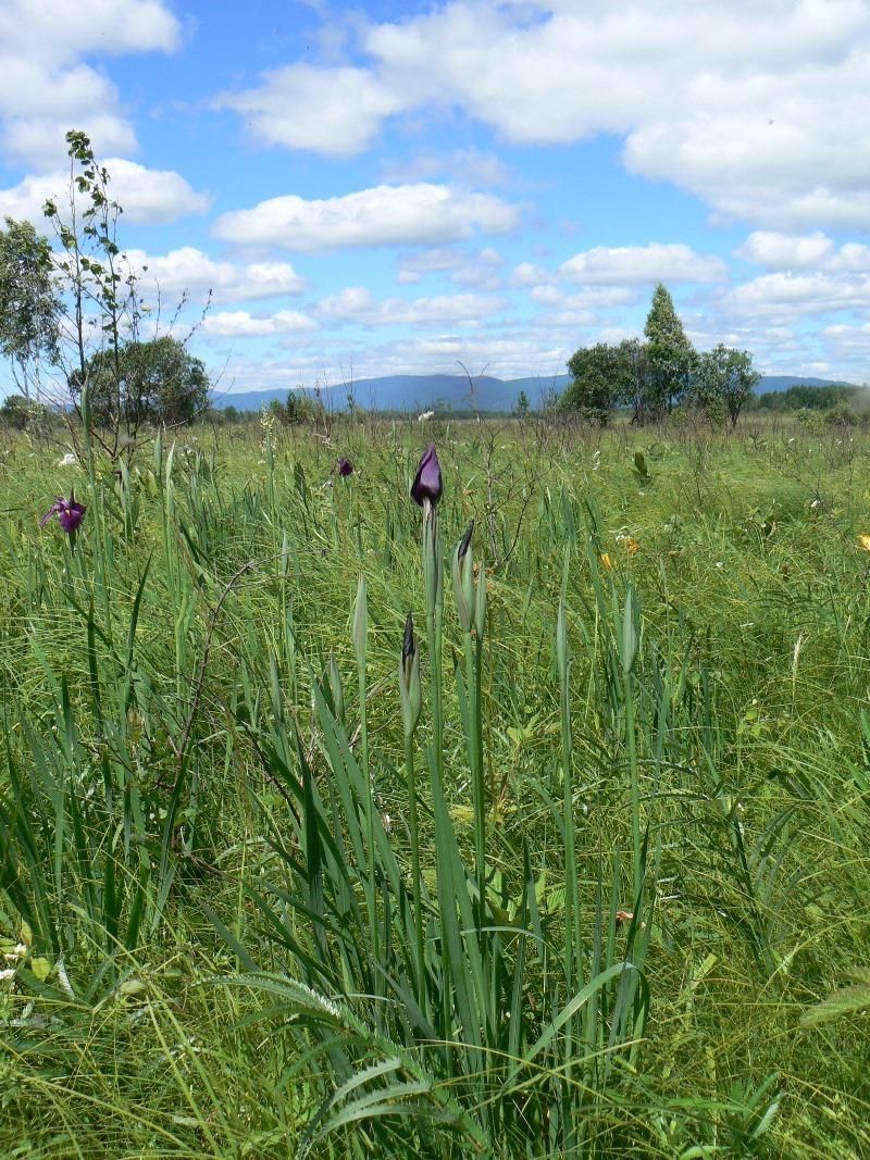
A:
[[[585,284],[637,284],[648,282],[720,282],[725,263],[711,254],[696,254],[680,244],[648,246],[596,246],[563,262],[559,274]]]

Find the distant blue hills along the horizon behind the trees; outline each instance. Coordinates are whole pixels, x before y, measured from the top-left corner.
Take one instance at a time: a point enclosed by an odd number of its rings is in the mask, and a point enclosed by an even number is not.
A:
[[[354,399],[367,411],[512,411],[520,392],[524,391],[532,409],[539,407],[551,392],[560,394],[571,382],[571,375],[552,375],[549,378],[501,379],[484,376],[472,378],[474,392],[464,375],[387,375],[383,378],[362,378],[353,384]],[[766,375],[757,385],[759,394],[770,391],[788,391],[790,386],[833,386],[834,380],[824,378],[798,378],[793,375]],[[348,385],[328,387],[322,392],[327,406],[335,411],[347,407]],[[239,391],[216,394],[213,405],[218,408],[235,407],[238,411],[259,411],[273,399],[287,399],[287,391]]]

